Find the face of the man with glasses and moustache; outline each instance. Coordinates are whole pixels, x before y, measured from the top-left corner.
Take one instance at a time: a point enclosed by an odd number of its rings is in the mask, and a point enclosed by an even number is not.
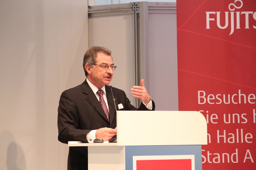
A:
[[[112,57],[109,55],[105,55],[103,53],[97,53],[97,62],[93,68],[91,68],[92,74],[90,75],[92,83],[98,89],[101,89],[104,85],[109,85],[113,77],[113,70],[111,67],[109,68],[102,68],[101,64],[104,65],[114,65],[112,61]]]

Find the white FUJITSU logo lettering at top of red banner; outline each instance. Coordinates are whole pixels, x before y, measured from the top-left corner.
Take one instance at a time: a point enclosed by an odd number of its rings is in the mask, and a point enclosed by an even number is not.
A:
[[[241,5],[240,6],[236,6],[236,5],[239,5],[240,3],[236,3],[236,2],[240,2]],[[235,0],[234,3],[231,3],[229,5],[229,10],[230,11],[234,11],[235,9],[240,9],[243,7],[243,1],[242,0]],[[249,18],[250,17],[253,17],[253,19],[256,21],[256,12],[253,12],[253,11],[237,11],[237,12],[225,12],[225,26],[221,26],[220,25],[220,20],[223,20],[224,18],[221,18],[220,19],[220,13],[221,12],[206,12],[206,29],[211,29],[210,28],[210,21],[215,21],[216,19],[216,14],[217,14],[217,26],[220,28],[220,29],[226,29],[228,28],[229,26],[229,20],[231,21],[230,22],[230,26],[231,26],[231,31],[230,31],[230,35],[233,34],[234,32],[234,28],[235,28],[235,24],[234,24],[234,15],[236,13],[236,28],[235,29],[241,29],[240,26],[245,29],[250,29],[250,27],[254,29],[256,29],[256,26],[254,25],[249,25]],[[211,16],[210,16],[211,14]],[[213,17],[213,14],[215,15]],[[210,18],[211,17],[211,18]],[[241,20],[245,20],[245,25],[240,25],[240,18]],[[212,23],[212,22],[211,22]]]

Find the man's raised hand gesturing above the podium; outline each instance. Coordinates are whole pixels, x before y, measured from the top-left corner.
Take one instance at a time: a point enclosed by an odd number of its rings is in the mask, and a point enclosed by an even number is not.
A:
[[[144,80],[141,80],[141,86],[133,86],[131,88],[131,93],[134,97],[141,99],[146,105],[150,102],[150,96],[144,86]]]

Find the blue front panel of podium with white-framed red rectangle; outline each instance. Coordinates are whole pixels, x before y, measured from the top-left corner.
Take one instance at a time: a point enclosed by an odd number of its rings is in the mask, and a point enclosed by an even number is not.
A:
[[[126,146],[126,170],[201,170],[201,145]]]

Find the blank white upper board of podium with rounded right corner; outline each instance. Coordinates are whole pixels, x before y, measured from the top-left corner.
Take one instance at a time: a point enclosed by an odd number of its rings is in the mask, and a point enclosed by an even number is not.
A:
[[[117,111],[123,146],[206,145],[207,123],[197,111]]]

